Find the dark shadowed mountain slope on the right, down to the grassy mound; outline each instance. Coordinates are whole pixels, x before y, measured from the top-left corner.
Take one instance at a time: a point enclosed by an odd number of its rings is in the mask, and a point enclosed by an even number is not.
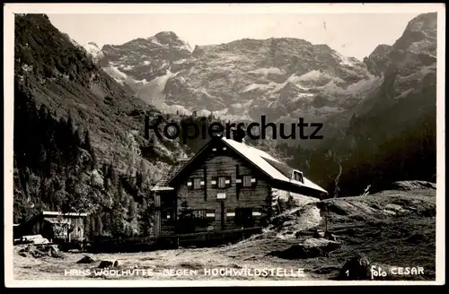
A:
[[[418,15],[392,47],[376,48],[368,58],[383,82],[356,108],[336,117],[340,126],[348,124],[342,134],[321,143],[335,156],[328,163],[336,170],[330,188],[341,167],[339,186],[353,194],[394,180],[435,181],[436,13]],[[320,169],[311,172],[324,177]]]

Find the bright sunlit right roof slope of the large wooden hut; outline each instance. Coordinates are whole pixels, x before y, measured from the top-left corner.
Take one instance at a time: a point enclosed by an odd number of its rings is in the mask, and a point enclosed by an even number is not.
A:
[[[222,141],[229,147],[233,148],[234,151],[237,151],[238,153],[242,154],[242,156],[244,156],[247,160],[250,160],[254,165],[256,165],[259,169],[267,173],[270,177],[273,177],[280,181],[289,182],[297,186],[307,186],[314,190],[327,193],[327,191],[321,188],[321,186],[314,184],[310,179],[306,177],[304,177],[304,183],[298,181],[291,181],[291,178],[286,177],[282,172],[280,172],[278,169],[269,164],[267,160],[273,160],[279,164],[284,163],[275,159],[265,151],[261,151],[257,148],[248,146],[245,143],[240,143],[232,139],[226,139],[225,137],[222,138]]]

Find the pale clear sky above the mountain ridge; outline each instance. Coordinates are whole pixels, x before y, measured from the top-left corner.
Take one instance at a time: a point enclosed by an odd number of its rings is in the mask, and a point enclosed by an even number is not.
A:
[[[50,22],[80,45],[119,45],[173,31],[195,45],[236,39],[298,38],[327,44],[362,60],[379,44],[392,45],[419,13],[127,13],[51,14]]]

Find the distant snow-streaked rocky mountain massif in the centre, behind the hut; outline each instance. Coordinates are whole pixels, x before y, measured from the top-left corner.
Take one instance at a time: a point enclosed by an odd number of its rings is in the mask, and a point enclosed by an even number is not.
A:
[[[362,98],[359,88],[378,80],[357,59],[303,39],[240,39],[191,51],[163,32],[102,51],[103,70],[157,108],[240,121],[324,118],[352,106]]]

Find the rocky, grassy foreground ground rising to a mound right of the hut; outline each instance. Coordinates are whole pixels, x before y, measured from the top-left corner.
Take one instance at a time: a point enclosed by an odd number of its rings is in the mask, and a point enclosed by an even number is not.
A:
[[[330,236],[320,232],[325,223]],[[84,255],[57,254],[53,249],[36,255],[15,246],[14,279],[322,281],[344,279],[339,272],[348,258],[365,255],[371,265],[388,272],[384,280],[431,281],[436,279],[436,190],[406,184],[374,195],[298,203],[261,235],[233,245],[96,254],[84,258],[88,264],[77,263]],[[421,267],[423,272],[393,275],[395,267]],[[217,268],[228,272],[205,272]],[[277,268],[282,271],[262,271]],[[346,269],[357,270],[353,265]],[[255,270],[260,276],[251,275],[257,274]],[[365,279],[371,279],[371,272]]]

